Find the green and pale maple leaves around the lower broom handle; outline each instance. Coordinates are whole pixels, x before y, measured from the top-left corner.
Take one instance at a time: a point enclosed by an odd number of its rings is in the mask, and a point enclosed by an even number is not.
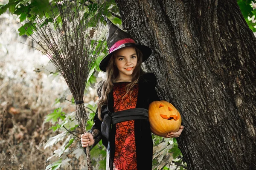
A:
[[[89,121],[87,122],[87,128],[92,127],[93,125],[93,116],[96,110],[96,105],[90,105],[90,104],[85,104],[88,109],[89,113]],[[77,159],[84,155],[84,150],[80,146],[80,138],[77,136],[79,134],[79,129],[78,129],[78,122],[75,119],[75,113],[63,113],[61,112],[61,109],[58,108],[56,109],[58,111],[55,111],[53,113],[50,113],[47,115],[47,119],[45,121],[49,121],[50,118],[54,117],[57,118],[58,121],[55,122],[56,125],[52,126],[50,129],[54,131],[58,131],[58,135],[53,136],[49,138],[49,140],[45,143],[44,148],[51,147],[54,144],[57,144],[58,142],[61,142],[61,147],[56,149],[54,151],[54,155],[49,157],[47,159],[57,159],[57,161],[54,161],[52,164],[48,165],[46,170],[53,170],[53,169],[59,169],[61,166],[67,165],[68,162],[71,159],[68,159],[67,155],[73,154]],[[65,117],[61,119],[59,116],[60,113],[63,113]],[[80,132],[81,133],[81,132]],[[91,159],[92,159],[92,164],[97,164],[98,167],[101,167],[100,169],[105,169],[105,158],[106,158],[106,150],[102,145],[102,142],[99,142],[99,144],[96,145],[91,150]],[[66,162],[63,163],[63,161],[60,161],[64,159]]]

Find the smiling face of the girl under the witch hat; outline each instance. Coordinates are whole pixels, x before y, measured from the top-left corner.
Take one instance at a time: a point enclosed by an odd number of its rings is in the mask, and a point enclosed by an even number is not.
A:
[[[137,65],[137,54],[134,47],[125,47],[115,51],[114,63],[119,71],[119,79],[128,79]]]

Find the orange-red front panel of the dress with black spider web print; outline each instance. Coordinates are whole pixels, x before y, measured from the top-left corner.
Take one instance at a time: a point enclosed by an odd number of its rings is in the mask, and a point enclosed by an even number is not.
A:
[[[128,83],[119,82],[114,84],[113,98],[115,112],[136,108],[138,84],[134,85],[131,100],[128,94],[123,100],[121,99],[126,94],[125,86]],[[117,123],[115,138],[113,170],[137,170],[134,120]]]

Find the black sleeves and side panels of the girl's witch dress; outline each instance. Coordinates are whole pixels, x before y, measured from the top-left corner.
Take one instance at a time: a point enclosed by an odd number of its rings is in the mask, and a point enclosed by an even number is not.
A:
[[[146,73],[140,76],[138,82],[139,91],[137,96],[136,108],[148,109],[148,106],[151,102],[160,100],[155,90],[156,84],[157,79],[153,73]],[[97,90],[97,94],[100,97],[101,87],[99,87],[98,89],[99,90]],[[105,116],[104,114],[106,114],[106,108],[107,111],[114,113],[113,105],[113,91],[111,91],[108,94],[108,105],[102,106],[102,111],[105,109],[105,112],[102,112],[102,118]],[[99,120],[97,115],[98,111],[96,111],[96,114],[94,116],[94,125],[91,128],[90,132],[92,132],[93,129],[101,130],[102,121]],[[137,170],[152,170],[153,142],[148,120],[134,120],[134,133],[137,156]],[[95,143],[90,147],[90,149],[92,149],[102,139],[102,144],[107,149],[106,170],[113,169],[113,159],[115,154],[115,134],[116,126],[112,125],[109,139],[107,140],[102,135],[99,135],[95,138]]]

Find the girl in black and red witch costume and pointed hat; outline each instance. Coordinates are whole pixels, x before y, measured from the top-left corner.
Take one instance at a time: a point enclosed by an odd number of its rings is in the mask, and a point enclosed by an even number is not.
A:
[[[105,16],[104,16],[105,17]],[[97,111],[91,130],[81,135],[82,147],[92,149],[100,140],[107,149],[107,170],[151,170],[153,142],[148,106],[160,100],[157,79],[141,68],[151,48],[138,45],[107,17],[109,53],[99,68],[106,78],[97,85]],[[183,126],[166,138],[179,137]]]

